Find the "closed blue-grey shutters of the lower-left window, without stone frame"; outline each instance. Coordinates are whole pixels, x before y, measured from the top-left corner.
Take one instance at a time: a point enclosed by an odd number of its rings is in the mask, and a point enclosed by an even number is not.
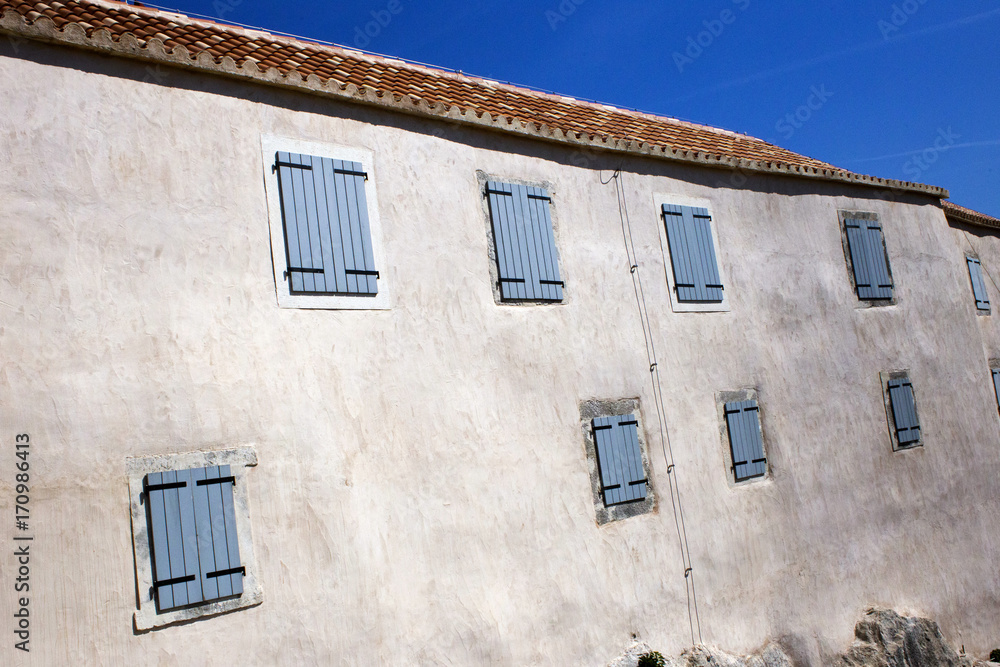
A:
[[[243,593],[233,482],[229,466],[146,476],[159,611]]]

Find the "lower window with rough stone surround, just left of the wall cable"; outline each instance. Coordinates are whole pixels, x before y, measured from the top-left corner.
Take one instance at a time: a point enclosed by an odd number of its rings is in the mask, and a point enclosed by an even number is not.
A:
[[[598,525],[653,511],[639,399],[584,401],[580,428]]]

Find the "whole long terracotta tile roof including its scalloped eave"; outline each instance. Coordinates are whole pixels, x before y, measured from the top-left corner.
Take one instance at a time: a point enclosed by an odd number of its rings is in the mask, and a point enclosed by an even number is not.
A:
[[[735,132],[114,0],[0,0],[0,30],[547,140],[947,197],[941,188],[855,174]]]

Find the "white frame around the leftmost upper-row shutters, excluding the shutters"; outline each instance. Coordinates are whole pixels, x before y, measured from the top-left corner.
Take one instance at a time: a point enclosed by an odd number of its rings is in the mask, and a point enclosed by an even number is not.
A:
[[[261,136],[261,150],[264,166],[264,183],[267,192],[267,218],[271,231],[271,263],[274,267],[274,288],[281,308],[311,308],[323,310],[388,310],[392,307],[389,285],[388,264],[385,245],[382,240],[382,220],[379,216],[377,193],[377,167],[375,154],[365,148],[340,146],[279,137],[271,134]],[[315,295],[291,294],[285,270],[288,260],[285,252],[285,230],[281,211],[281,194],[278,191],[278,174],[272,169],[275,154],[279,151],[301,153],[334,160],[360,162],[368,174],[365,181],[365,198],[368,201],[368,223],[372,239],[372,255],[379,271],[378,294],[357,295]]]

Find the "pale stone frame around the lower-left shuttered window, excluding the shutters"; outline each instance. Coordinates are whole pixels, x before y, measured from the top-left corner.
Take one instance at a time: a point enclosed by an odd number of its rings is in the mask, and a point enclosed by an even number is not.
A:
[[[184,609],[163,613],[156,612],[153,597],[153,564],[150,557],[149,523],[146,517],[146,499],[143,480],[154,472],[187,470],[209,466],[228,465],[236,479],[233,484],[233,504],[236,509],[236,534],[239,536],[240,561],[246,568],[243,577],[243,594],[238,598],[206,602]],[[216,616],[237,609],[254,607],[264,601],[257,569],[257,557],[253,550],[253,536],[250,532],[250,502],[248,497],[247,468],[257,465],[257,452],[251,446],[209,452],[188,452],[184,454],[163,454],[126,460],[128,476],[129,505],[132,512],[132,549],[135,556],[135,580],[139,609],[133,616],[136,630],[142,632],[174,623],[183,623],[198,618]]]

